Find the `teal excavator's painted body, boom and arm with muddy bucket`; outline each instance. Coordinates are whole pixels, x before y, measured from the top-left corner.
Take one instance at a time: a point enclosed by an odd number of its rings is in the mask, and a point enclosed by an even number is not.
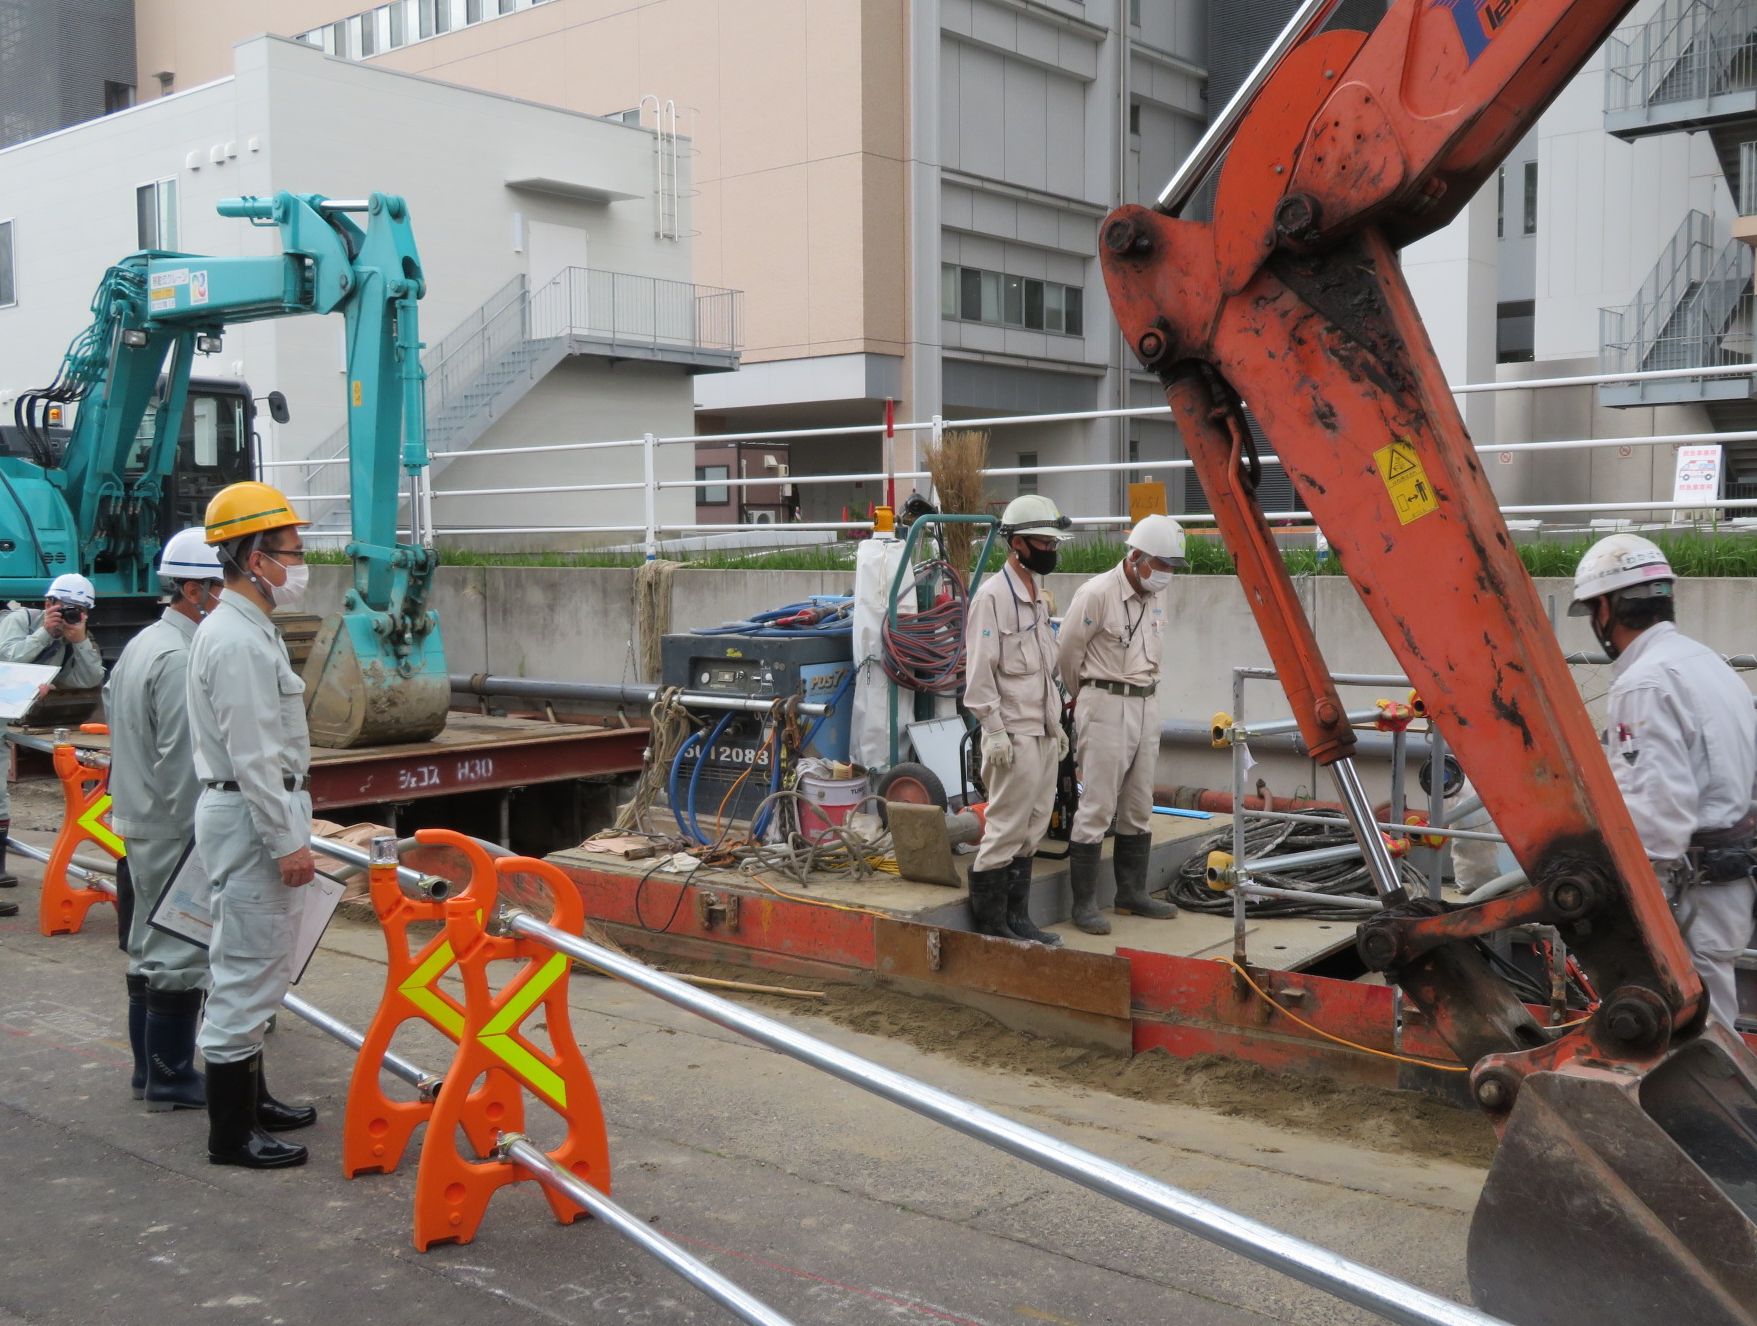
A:
[[[353,585],[306,662],[311,738],[332,748],[425,741],[445,727],[450,681],[439,618],[427,608],[437,566],[418,501],[427,423],[416,304],[427,283],[408,207],[388,193],[276,193],[218,209],[278,228],[281,253],[128,255],[104,274],[91,325],[54,383],[18,397],[16,432],[33,458],[0,455],[11,508],[0,515],[0,597],[35,599],[61,571],[88,574],[105,604],[156,595],[162,506],[195,355],[216,351],[235,323],[341,313]],[[67,443],[51,448],[51,413],[69,407],[77,414]],[[409,543],[397,541],[404,476],[415,499]]]

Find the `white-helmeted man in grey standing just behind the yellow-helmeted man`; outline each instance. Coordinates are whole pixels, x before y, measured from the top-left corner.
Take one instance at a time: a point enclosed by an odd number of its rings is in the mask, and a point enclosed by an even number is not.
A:
[[[220,599],[220,555],[200,525],[170,536],[158,578],[170,606],[128,641],[104,687],[111,827],[128,843],[116,901],[128,950],[130,1085],[153,1112],[207,1103],[195,1071],[207,954],[148,924],[195,836],[202,790],[190,750],[190,643]]]

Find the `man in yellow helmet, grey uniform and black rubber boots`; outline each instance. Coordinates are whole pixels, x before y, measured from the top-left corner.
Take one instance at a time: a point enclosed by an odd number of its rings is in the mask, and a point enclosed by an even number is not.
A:
[[[207,504],[207,543],[225,590],[190,650],[195,845],[213,882],[211,991],[200,1050],[207,1061],[207,1159],[249,1170],[304,1164],[306,1149],[272,1133],[316,1122],[316,1110],[269,1094],[262,1034],[292,982],[300,889],[311,859],[311,734],[304,681],[269,620],[306,592],[306,550],[286,497],[234,483]]]

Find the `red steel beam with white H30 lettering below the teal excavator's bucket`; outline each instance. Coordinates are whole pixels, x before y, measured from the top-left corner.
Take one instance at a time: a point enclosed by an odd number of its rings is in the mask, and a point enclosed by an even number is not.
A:
[[[645,727],[560,727],[557,736],[504,745],[360,750],[313,762],[311,806],[337,810],[638,773],[645,750]]]

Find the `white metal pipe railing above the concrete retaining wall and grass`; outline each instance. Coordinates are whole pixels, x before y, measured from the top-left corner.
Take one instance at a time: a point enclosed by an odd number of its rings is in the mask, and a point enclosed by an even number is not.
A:
[[[1455,395],[1472,395],[1483,392],[1527,392],[1527,390],[1544,390],[1544,388],[1569,388],[1569,386],[1601,386],[1606,383],[1632,383],[1632,381],[1666,381],[1666,379],[1696,379],[1696,378],[1727,378],[1727,376],[1748,376],[1757,378],[1757,364],[1734,364],[1718,367],[1696,367],[1696,369],[1659,369],[1648,372],[1601,372],[1585,374],[1576,378],[1537,378],[1529,381],[1506,381],[1506,383],[1467,383],[1453,386]],[[787,522],[784,525],[763,522],[763,523],[740,523],[740,522],[719,522],[719,523],[696,523],[696,522],[669,522],[662,520],[659,513],[659,495],[666,490],[676,488],[750,488],[750,486],[768,486],[773,488],[777,483],[789,483],[799,486],[810,485],[833,485],[833,483],[886,483],[896,479],[915,481],[931,478],[928,471],[922,469],[893,469],[896,457],[896,437],[914,437],[926,434],[933,443],[938,443],[942,436],[949,430],[959,429],[1009,429],[1016,425],[1044,425],[1044,423],[1077,423],[1089,420],[1126,420],[1126,418],[1168,418],[1168,406],[1142,406],[1135,409],[1084,409],[1084,411],[1066,411],[1056,414],[1003,414],[991,418],[944,418],[935,414],[931,420],[917,422],[898,422],[898,423],[857,423],[831,429],[791,429],[777,432],[719,432],[719,434],[689,434],[682,437],[661,437],[657,434],[643,434],[640,437],[625,437],[613,441],[589,441],[589,443],[545,443],[532,446],[492,446],[492,448],[469,448],[460,451],[434,451],[436,460],[443,458],[462,458],[471,460],[492,458],[492,457],[520,457],[520,455],[543,455],[550,458],[559,458],[575,453],[592,453],[592,451],[613,451],[613,450],[631,450],[636,448],[643,453],[643,467],[640,479],[618,481],[618,483],[548,483],[548,485],[522,485],[522,486],[497,486],[497,488],[439,488],[434,490],[422,485],[415,494],[413,501],[420,504],[422,522],[418,527],[427,537],[448,536],[448,534],[469,534],[469,536],[490,536],[490,534],[527,534],[527,536],[555,536],[555,534],[580,534],[580,536],[610,536],[625,534],[638,536],[638,541],[645,546],[648,557],[655,555],[661,537],[664,536],[699,536],[699,534],[731,534],[736,530],[864,530],[871,529],[870,520],[805,520],[805,522]],[[884,441],[884,458],[886,471],[878,472],[845,472],[845,474],[787,474],[785,478],[777,478],[775,474],[764,474],[759,478],[710,478],[710,479],[683,479],[683,478],[661,478],[657,465],[657,451],[666,446],[691,446],[698,443],[708,444],[731,444],[731,443],[792,443],[792,441],[822,441],[828,437],[878,437]],[[1604,448],[1638,448],[1638,446],[1697,446],[1697,444],[1732,444],[1732,443],[1757,443],[1757,430],[1750,432],[1688,432],[1688,434],[1652,434],[1643,437],[1571,437],[1571,439],[1553,439],[1553,441],[1527,441],[1527,443],[1493,443],[1476,448],[1479,453],[1523,453],[1523,451],[1592,451]],[[914,451],[914,448],[912,448]],[[1279,464],[1276,457],[1263,455],[1265,465]],[[313,488],[332,486],[332,479],[337,479],[334,486],[346,486],[346,465],[348,457],[330,457],[323,460],[265,460],[260,462],[264,478],[292,490],[299,501],[306,502],[341,502],[343,515],[334,515],[332,520],[320,522],[313,534],[322,539],[325,534],[344,537],[346,536],[346,492],[304,492],[299,494],[300,485]],[[1016,478],[1016,476],[1056,476],[1056,474],[1135,474],[1135,472],[1161,472],[1191,469],[1193,462],[1182,460],[1132,460],[1132,462],[1091,462],[1091,464],[1070,464],[1070,465],[1000,465],[986,469],[984,474],[991,479]],[[327,472],[325,472],[327,471]],[[339,474],[336,471],[341,471]],[[286,474],[286,478],[276,478],[276,472]],[[320,478],[320,472],[322,474]],[[596,495],[596,494],[641,494],[641,520],[636,523],[596,523],[596,525],[471,525],[466,520],[446,518],[446,511],[455,511],[452,506],[459,501],[481,499],[481,497],[518,497],[518,495],[557,495],[557,494],[578,494],[578,495]],[[436,504],[439,509],[436,509]],[[1581,529],[1594,527],[1602,529],[1606,523],[1627,525],[1616,516],[1616,513],[1648,513],[1652,520],[1659,513],[1673,511],[1704,511],[1713,509],[1722,513],[1722,520],[1732,520],[1746,511],[1752,518],[1757,518],[1757,497],[1717,497],[1713,502],[1703,502],[1696,499],[1690,502],[1673,502],[1673,501],[1608,501],[1608,502],[1546,502],[1546,504],[1513,504],[1502,506],[1500,513],[1509,520],[1529,520],[1534,527],[1565,527]],[[1214,516],[1207,511],[1182,511],[1172,513],[1177,520],[1189,525],[1212,523]],[[1267,511],[1269,520],[1279,522],[1298,522],[1311,520],[1309,511]],[[334,523],[332,523],[334,522]],[[1112,513],[1100,516],[1072,516],[1075,527],[1086,529],[1119,529],[1130,523],[1126,513]],[[636,539],[629,539],[634,543]]]

